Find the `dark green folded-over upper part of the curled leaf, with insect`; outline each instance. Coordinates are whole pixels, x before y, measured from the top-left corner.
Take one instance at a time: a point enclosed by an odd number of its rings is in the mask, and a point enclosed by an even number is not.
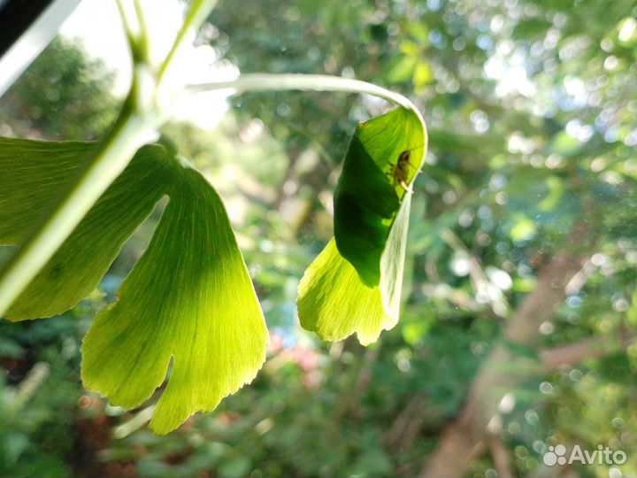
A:
[[[405,108],[359,124],[349,143],[334,191],[334,237],[368,286],[380,283],[389,231],[425,150],[424,124]]]

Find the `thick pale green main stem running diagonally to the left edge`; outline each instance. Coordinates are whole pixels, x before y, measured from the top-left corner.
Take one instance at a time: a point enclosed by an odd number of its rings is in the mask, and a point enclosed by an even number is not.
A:
[[[129,102],[130,103],[130,102]],[[0,274],[0,317],[71,235],[88,210],[119,176],[155,128],[128,104],[100,143],[80,179],[35,235],[22,244]]]

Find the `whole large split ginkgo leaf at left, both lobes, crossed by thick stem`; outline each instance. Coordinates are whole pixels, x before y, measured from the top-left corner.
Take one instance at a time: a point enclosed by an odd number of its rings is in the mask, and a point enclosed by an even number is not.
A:
[[[20,243],[84,166],[91,143],[3,140],[0,243]],[[267,331],[219,196],[165,145],[137,152],[7,314],[46,317],[88,296],[122,243],[170,202],[149,250],[99,312],[83,346],[85,385],[127,408],[173,369],[151,428],[166,433],[257,374]]]

